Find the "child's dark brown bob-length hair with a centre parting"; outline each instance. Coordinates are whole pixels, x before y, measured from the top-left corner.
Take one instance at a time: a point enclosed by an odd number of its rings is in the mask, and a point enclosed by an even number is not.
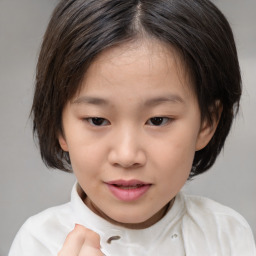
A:
[[[188,70],[201,118],[219,124],[195,153],[190,178],[208,170],[224,146],[239,108],[241,76],[230,25],[208,0],[61,0],[46,30],[31,109],[34,136],[48,167],[72,171],[58,141],[62,111],[86,70],[110,47],[138,39],[173,47]]]

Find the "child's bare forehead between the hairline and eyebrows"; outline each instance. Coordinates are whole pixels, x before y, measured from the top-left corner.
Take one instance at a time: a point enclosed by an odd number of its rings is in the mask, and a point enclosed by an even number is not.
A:
[[[81,89],[83,93],[99,93],[106,87],[111,90],[113,86],[120,85],[127,90],[132,88],[137,93],[143,89],[146,93],[147,89],[160,90],[167,82],[170,88],[171,85],[179,84],[182,87],[179,89],[185,93],[193,92],[189,73],[178,52],[150,39],[125,43],[103,51],[87,70]]]

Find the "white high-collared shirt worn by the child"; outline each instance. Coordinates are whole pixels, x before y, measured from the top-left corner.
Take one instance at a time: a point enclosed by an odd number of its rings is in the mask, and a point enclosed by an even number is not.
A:
[[[9,256],[56,256],[76,223],[100,235],[106,256],[256,255],[254,238],[244,218],[210,199],[180,192],[160,221],[146,229],[131,230],[93,213],[74,186],[69,203],[25,222]],[[114,239],[108,243],[110,237]]]

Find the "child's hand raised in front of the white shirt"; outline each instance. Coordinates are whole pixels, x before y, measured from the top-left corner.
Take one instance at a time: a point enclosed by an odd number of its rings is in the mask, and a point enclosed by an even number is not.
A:
[[[58,256],[104,256],[100,250],[100,236],[76,224],[63,244]]]

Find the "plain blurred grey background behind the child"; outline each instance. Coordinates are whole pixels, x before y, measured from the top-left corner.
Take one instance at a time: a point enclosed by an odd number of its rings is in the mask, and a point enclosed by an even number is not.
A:
[[[240,212],[256,235],[256,1],[216,0],[234,30],[244,93],[225,150],[186,190]],[[56,0],[0,0],[0,256],[31,215],[69,200],[71,174],[48,170],[31,135],[36,58]]]

